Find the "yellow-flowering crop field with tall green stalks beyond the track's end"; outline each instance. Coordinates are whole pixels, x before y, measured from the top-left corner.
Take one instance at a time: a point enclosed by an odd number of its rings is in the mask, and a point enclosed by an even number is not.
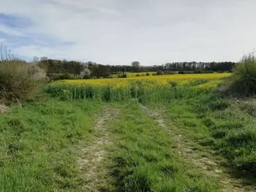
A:
[[[59,80],[47,92],[62,99],[102,99],[120,101],[129,98],[169,99],[176,88],[211,91],[230,74],[170,74],[97,80]]]

